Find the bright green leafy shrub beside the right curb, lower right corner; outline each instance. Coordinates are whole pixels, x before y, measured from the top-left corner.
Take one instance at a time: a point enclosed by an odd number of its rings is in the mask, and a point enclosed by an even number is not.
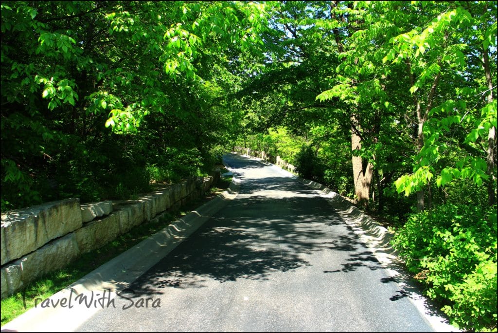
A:
[[[444,204],[412,214],[392,244],[452,324],[497,329],[497,213]]]

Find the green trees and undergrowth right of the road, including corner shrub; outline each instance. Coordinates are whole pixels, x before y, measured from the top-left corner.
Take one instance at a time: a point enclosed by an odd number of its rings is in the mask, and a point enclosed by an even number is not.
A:
[[[427,295],[496,331],[497,2],[268,10],[238,145],[398,221],[393,245]]]

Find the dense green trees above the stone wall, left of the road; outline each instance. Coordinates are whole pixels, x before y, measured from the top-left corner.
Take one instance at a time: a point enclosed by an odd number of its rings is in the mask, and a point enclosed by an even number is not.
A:
[[[265,19],[179,1],[2,1],[1,15],[2,210],[209,170]]]

